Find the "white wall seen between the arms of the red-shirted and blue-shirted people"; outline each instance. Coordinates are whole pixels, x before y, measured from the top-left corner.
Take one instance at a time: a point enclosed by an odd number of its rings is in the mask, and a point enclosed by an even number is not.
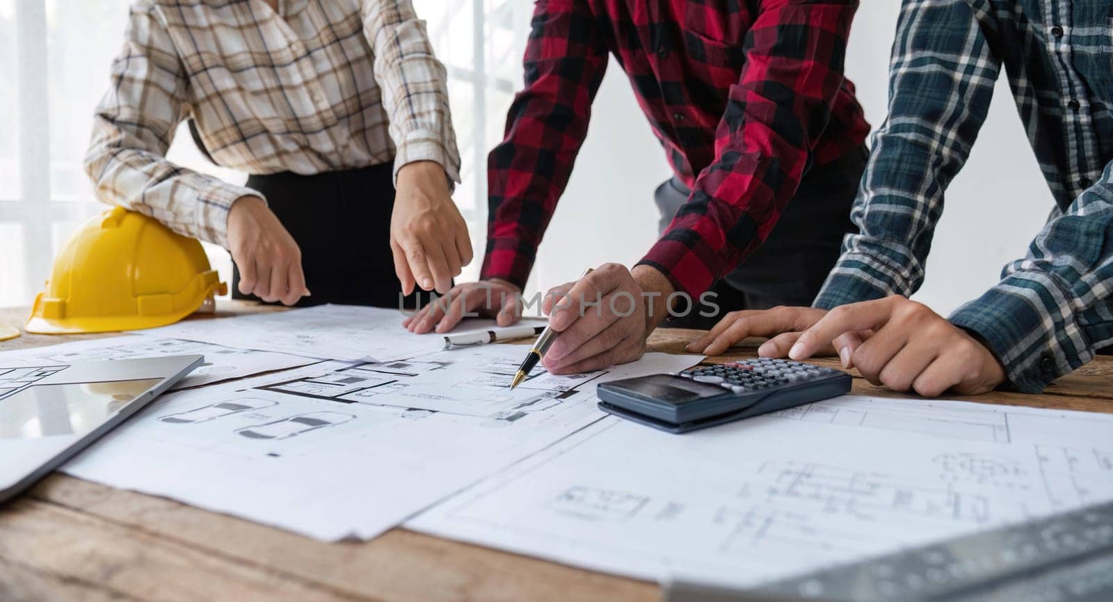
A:
[[[864,2],[848,50],[847,72],[875,127],[886,114],[897,8],[897,2]],[[637,261],[656,238],[652,193],[669,174],[626,76],[612,63],[531,287],[575,278],[588,265]],[[916,298],[946,314],[978,296],[1006,261],[1025,253],[1051,208],[1003,77],[971,160],[947,191],[927,280]]]

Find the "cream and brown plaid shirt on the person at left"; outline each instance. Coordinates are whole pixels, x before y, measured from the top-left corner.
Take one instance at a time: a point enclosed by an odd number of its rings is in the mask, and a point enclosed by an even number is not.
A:
[[[166,160],[189,117],[217,164],[248,174],[433,160],[460,177],[445,70],[410,0],[132,4],[86,171],[105,203],[227,246],[233,201],[263,195]]]

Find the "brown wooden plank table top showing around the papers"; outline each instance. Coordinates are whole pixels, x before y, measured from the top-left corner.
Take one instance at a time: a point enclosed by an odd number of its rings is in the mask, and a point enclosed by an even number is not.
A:
[[[223,303],[219,316],[269,310]],[[22,324],[26,309],[0,309]],[[208,318],[199,318],[208,319]],[[653,351],[683,353],[693,330],[659,329]],[[78,337],[23,335],[0,351]],[[752,357],[737,349],[716,361]],[[830,359],[816,362],[837,365]],[[861,378],[854,392],[890,395]],[[1043,395],[972,401],[1113,412],[1113,357]],[[177,502],[55,474],[0,510],[0,601],[649,601],[653,583],[592,573],[394,529],[366,543],[321,543]]]

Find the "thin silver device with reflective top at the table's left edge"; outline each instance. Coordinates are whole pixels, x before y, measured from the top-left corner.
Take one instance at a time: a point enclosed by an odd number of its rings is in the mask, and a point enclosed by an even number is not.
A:
[[[4,367],[0,503],[18,495],[200,366],[200,355]]]

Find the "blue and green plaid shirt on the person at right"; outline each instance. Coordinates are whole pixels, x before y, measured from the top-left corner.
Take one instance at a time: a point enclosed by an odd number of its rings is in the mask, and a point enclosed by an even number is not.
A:
[[[943,195],[969,155],[1001,68],[1055,199],[1023,259],[951,322],[1012,384],[1040,392],[1113,344],[1113,2],[904,0],[889,116],[843,256],[817,307],[912,295]]]

